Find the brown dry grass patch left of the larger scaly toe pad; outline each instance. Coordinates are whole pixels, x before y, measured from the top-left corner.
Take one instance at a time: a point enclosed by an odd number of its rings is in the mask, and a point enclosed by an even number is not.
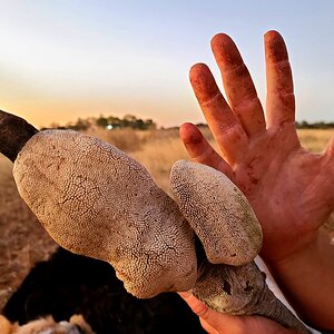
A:
[[[0,310],[31,266],[56,248],[21,200],[11,168],[11,163],[0,156]]]

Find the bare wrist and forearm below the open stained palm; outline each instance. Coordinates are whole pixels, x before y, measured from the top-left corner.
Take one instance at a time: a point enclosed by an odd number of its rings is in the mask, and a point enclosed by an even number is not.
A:
[[[330,242],[320,229],[303,249],[265,262],[299,317],[312,326],[333,330],[334,247]]]

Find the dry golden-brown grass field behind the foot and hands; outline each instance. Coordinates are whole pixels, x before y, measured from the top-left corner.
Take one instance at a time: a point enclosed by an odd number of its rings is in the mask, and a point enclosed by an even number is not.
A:
[[[212,141],[208,130],[204,129],[204,132]],[[187,158],[177,129],[99,130],[90,135],[129,153],[147,167],[157,184],[168,193],[171,165],[178,159]],[[313,151],[321,151],[332,136],[334,129],[299,130],[302,143]],[[53,240],[20,199],[11,168],[11,163],[0,156],[0,310],[31,266],[37,261],[47,258],[56,248]],[[333,222],[327,228],[334,230]]]

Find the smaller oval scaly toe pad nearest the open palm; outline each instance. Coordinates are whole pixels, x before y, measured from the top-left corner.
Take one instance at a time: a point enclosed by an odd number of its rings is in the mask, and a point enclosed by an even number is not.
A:
[[[262,228],[244,194],[224,174],[186,160],[170,171],[174,197],[210,263],[243,265],[262,247]]]

